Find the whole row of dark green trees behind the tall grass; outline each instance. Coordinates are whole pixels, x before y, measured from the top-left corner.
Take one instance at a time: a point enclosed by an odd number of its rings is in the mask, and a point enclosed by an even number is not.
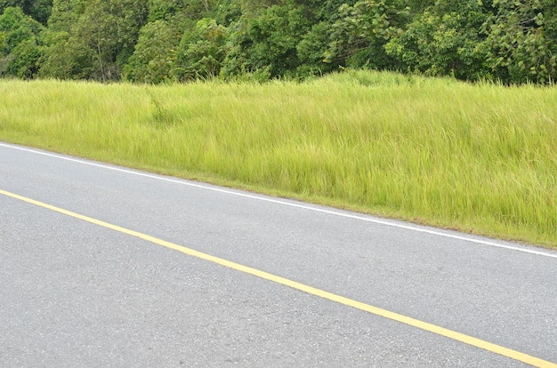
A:
[[[0,0],[0,13],[0,76],[557,80],[557,0]]]

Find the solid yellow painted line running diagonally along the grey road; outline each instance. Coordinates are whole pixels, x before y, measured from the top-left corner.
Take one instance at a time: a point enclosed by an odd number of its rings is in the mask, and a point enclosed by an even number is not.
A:
[[[201,259],[201,260],[208,260],[208,261],[216,263],[218,265],[221,265],[221,266],[224,266],[224,267],[227,267],[227,268],[236,269],[240,272],[244,272],[244,273],[249,274],[249,275],[261,277],[262,279],[269,280],[269,281],[272,281],[272,282],[277,283],[277,284],[282,284],[282,285],[291,287],[293,289],[299,290],[301,292],[307,292],[311,295],[316,295],[316,296],[319,296],[320,298],[324,298],[324,299],[327,299],[327,300],[332,300],[332,301],[335,301],[337,303],[343,304],[345,306],[349,306],[349,307],[352,307],[352,308],[357,308],[357,309],[360,309],[360,310],[364,310],[364,311],[366,311],[368,313],[371,313],[371,314],[374,314],[376,316],[383,316],[385,318],[392,319],[392,320],[400,322],[402,324],[408,324],[410,326],[419,328],[419,329],[427,331],[427,332],[437,333],[441,336],[448,337],[449,339],[464,342],[465,344],[472,345],[473,347],[476,347],[476,348],[482,348],[484,350],[488,350],[490,352],[496,353],[496,354],[501,355],[501,356],[507,356],[509,358],[518,360],[522,363],[526,363],[526,364],[530,364],[530,365],[533,365],[533,366],[536,366],[536,367],[542,367],[542,368],[557,368],[557,364],[554,364],[552,362],[548,362],[546,360],[537,358],[536,356],[529,356],[527,354],[521,353],[521,352],[513,350],[511,348],[504,348],[504,347],[501,347],[499,345],[492,344],[492,343],[490,343],[488,341],[485,341],[485,340],[476,339],[472,336],[465,335],[464,333],[448,330],[446,328],[440,327],[440,326],[435,325],[435,324],[428,324],[427,322],[423,322],[423,321],[420,321],[420,320],[417,320],[415,318],[411,318],[411,317],[408,317],[408,316],[402,316],[398,313],[394,313],[394,312],[391,312],[389,310],[385,310],[385,309],[382,309],[382,308],[376,308],[376,307],[370,306],[368,304],[359,302],[357,300],[351,300],[349,298],[345,298],[343,296],[336,295],[332,292],[326,292],[324,290],[320,290],[320,289],[317,289],[315,287],[308,286],[306,284],[300,284],[300,283],[297,283],[295,281],[289,280],[287,278],[272,275],[270,273],[261,271],[259,269],[247,267],[247,266],[238,264],[236,262],[232,262],[230,260],[224,260],[224,259],[219,258],[219,257],[214,257],[210,254],[206,254],[204,252],[198,252],[198,251],[195,251],[193,249],[184,247],[182,245],[166,242],[165,240],[158,239],[157,237],[154,237],[154,236],[145,235],[145,234],[142,234],[140,232],[130,230],[128,228],[121,228],[117,225],[109,224],[108,222],[104,222],[104,221],[101,221],[101,220],[96,220],[96,219],[81,215],[81,214],[76,213],[76,212],[71,212],[71,211],[68,211],[68,210],[64,210],[62,208],[55,207],[51,204],[44,204],[44,203],[36,201],[34,199],[30,199],[30,198],[27,198],[25,196],[19,196],[19,195],[4,191],[2,189],[0,189],[0,194],[2,194],[4,196],[10,196],[10,197],[15,198],[15,199],[19,199],[20,201],[27,202],[29,204],[35,204],[37,206],[46,208],[48,210],[52,210],[54,212],[60,212],[60,213],[63,213],[65,215],[71,216],[73,218],[93,223],[93,224],[101,226],[103,228],[109,228],[109,229],[118,231],[120,233],[127,234],[129,236],[135,236],[135,237],[138,237],[142,240],[148,241],[150,243],[162,245],[166,248],[173,249],[174,251],[182,252],[182,253],[187,254],[191,257],[196,257],[196,258]]]

